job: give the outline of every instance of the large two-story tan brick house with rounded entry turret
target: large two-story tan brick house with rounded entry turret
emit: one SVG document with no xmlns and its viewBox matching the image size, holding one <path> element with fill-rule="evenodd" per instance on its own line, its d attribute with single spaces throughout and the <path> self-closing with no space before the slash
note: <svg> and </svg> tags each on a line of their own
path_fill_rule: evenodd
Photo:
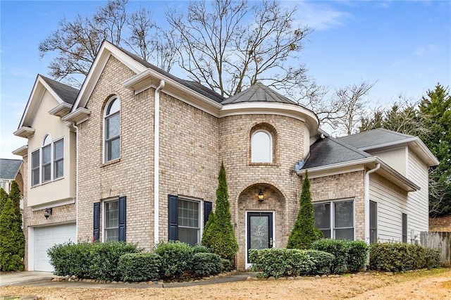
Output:
<svg viewBox="0 0 451 300">
<path fill-rule="evenodd" d="M 239 269 L 249 248 L 286 246 L 304 170 L 326 236 L 411 242 L 428 230 L 437 160 L 416 137 L 326 137 L 314 112 L 261 83 L 224 99 L 109 42 L 80 91 L 38 75 L 15 134 L 28 139 L 14 151 L 26 169 L 28 270 L 51 270 L 55 242 L 199 243 L 221 161 Z"/>
</svg>

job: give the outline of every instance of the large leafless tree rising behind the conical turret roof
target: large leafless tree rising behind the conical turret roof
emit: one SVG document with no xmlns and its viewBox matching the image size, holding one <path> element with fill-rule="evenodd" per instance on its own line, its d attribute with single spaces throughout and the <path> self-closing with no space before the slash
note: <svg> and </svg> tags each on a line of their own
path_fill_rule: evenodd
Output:
<svg viewBox="0 0 451 300">
<path fill-rule="evenodd" d="M 233 96 L 257 81 L 290 89 L 307 80 L 304 65 L 287 63 L 299 59 L 311 32 L 307 26 L 293 28 L 294 13 L 277 1 L 250 6 L 216 0 L 192 2 L 187 13 L 166 15 L 180 39 L 180 67 L 192 80 Z"/>
</svg>

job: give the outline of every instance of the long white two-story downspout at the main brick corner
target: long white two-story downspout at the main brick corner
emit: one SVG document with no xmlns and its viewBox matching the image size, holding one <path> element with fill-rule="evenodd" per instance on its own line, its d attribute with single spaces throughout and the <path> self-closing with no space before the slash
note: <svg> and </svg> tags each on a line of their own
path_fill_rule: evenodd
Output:
<svg viewBox="0 0 451 300">
<path fill-rule="evenodd" d="M 164 80 L 155 89 L 154 97 L 154 243 L 159 242 L 159 196 L 160 196 L 160 91 L 164 87 Z"/>
</svg>

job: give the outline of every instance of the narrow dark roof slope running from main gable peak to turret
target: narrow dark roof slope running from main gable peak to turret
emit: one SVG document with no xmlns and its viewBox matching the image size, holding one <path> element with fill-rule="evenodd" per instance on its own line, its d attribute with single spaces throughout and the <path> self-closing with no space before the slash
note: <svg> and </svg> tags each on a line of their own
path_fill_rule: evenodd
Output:
<svg viewBox="0 0 451 300">
<path fill-rule="evenodd" d="M 121 51 L 123 51 L 125 54 L 127 54 L 128 56 L 133 58 L 135 61 L 141 63 L 145 67 L 155 70 L 156 72 L 158 72 L 166 77 L 171 78 L 172 80 L 180 83 L 181 85 L 184 85 L 185 87 L 188 87 L 188 88 L 194 90 L 195 92 L 198 92 L 199 94 L 202 94 L 202 95 L 208 97 L 209 99 L 211 99 L 213 101 L 221 103 L 221 101 L 223 101 L 223 99 L 224 99 L 223 96 L 214 92 L 213 90 L 209 89 L 208 87 L 204 87 L 199 82 L 183 80 L 179 77 L 172 75 L 171 73 L 166 72 L 165 70 L 163 70 L 161 68 L 158 68 L 156 65 L 152 65 L 152 63 L 149 63 L 148 61 L 144 61 L 144 59 L 140 58 L 139 56 L 137 56 L 135 54 L 132 54 L 131 52 L 129 52 L 119 46 L 116 46 L 116 47 L 118 47 L 118 49 L 121 49 Z"/>
</svg>

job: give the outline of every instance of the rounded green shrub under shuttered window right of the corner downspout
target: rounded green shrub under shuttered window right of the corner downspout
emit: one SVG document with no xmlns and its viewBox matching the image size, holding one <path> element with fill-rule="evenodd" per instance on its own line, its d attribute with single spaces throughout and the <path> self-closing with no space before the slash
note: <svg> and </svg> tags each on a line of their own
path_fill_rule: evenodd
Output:
<svg viewBox="0 0 451 300">
<path fill-rule="evenodd" d="M 179 241 L 161 242 L 155 253 L 161 256 L 161 276 L 167 278 L 180 277 L 192 267 L 194 252 L 192 246 Z"/>
</svg>

